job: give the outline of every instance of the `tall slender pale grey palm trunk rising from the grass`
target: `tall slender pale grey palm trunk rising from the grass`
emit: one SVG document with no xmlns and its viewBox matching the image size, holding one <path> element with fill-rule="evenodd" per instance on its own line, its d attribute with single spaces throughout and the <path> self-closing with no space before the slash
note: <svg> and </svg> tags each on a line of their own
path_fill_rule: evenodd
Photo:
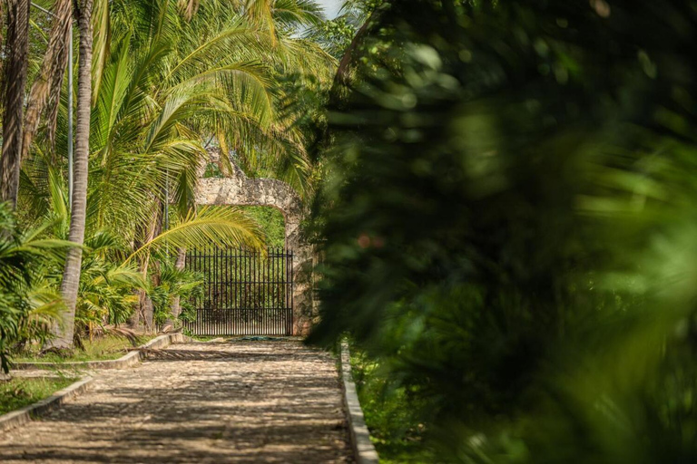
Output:
<svg viewBox="0 0 697 464">
<path fill-rule="evenodd" d="M 83 0 L 80 5 L 78 28 L 80 30 L 80 60 L 77 71 L 77 123 L 75 125 L 75 164 L 73 203 L 71 205 L 68 240 L 83 245 L 84 223 L 87 208 L 87 174 L 90 158 L 90 111 L 92 108 L 92 7 L 93 0 Z M 59 330 L 54 346 L 73 345 L 75 330 L 75 302 L 80 285 L 80 266 L 83 250 L 73 247 L 65 258 L 63 294 L 66 310 L 63 327 Z"/>
</svg>

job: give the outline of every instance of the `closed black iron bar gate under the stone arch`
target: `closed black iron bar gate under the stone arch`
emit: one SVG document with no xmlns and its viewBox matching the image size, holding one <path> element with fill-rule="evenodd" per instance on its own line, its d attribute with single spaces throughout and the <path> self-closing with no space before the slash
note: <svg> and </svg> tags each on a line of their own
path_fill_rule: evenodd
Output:
<svg viewBox="0 0 697 464">
<path fill-rule="evenodd" d="M 187 253 L 186 266 L 203 275 L 203 295 L 191 300 L 195 335 L 290 335 L 293 330 L 293 253 L 209 247 Z"/>
</svg>

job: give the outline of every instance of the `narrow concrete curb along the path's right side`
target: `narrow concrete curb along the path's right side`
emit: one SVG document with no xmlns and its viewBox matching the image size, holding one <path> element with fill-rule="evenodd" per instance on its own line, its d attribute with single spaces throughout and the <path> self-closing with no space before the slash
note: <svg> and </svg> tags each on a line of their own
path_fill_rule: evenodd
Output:
<svg viewBox="0 0 697 464">
<path fill-rule="evenodd" d="M 344 406 L 348 413 L 348 430 L 351 436 L 351 446 L 358 464 L 378 464 L 378 451 L 370 441 L 370 433 L 363 410 L 360 408 L 356 384 L 351 375 L 351 357 L 348 353 L 348 343 L 341 342 L 341 381 L 344 390 Z"/>
</svg>

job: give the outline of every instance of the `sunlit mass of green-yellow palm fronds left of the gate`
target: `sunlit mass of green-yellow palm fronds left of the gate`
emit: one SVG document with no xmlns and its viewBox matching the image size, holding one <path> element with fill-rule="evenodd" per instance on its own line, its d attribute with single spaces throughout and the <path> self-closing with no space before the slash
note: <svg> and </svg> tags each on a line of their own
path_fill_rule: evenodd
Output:
<svg viewBox="0 0 697 464">
<path fill-rule="evenodd" d="M 309 120 L 324 117 L 321 97 L 293 94 L 309 82 L 326 95 L 335 61 L 298 34 L 322 21 L 319 8 L 293 1 L 274 8 L 262 1 L 190 6 L 104 3 L 94 18 L 83 262 L 74 320 L 67 321 L 78 347 L 94 337 L 176 326 L 172 304 L 188 314 L 200 291 L 201 276 L 180 259 L 188 247 L 264 246 L 259 222 L 241 209 L 195 204 L 211 148 L 219 151 L 223 175 L 235 163 L 250 176 L 285 180 L 302 196 L 311 191 L 307 145 L 315 134 L 308 128 Z M 294 82 L 282 77 L 290 73 Z M 66 324 L 57 317 L 56 295 L 70 218 L 66 104 L 62 97 L 55 124 L 40 127 L 23 160 L 16 215 L 7 212 L 12 224 L 3 226 L 12 230 L 4 236 L 7 253 L 13 247 L 24 253 L 8 255 L 15 267 L 6 267 L 0 284 L 0 297 L 8 299 L 4 369 L 10 348 L 50 344 L 52 327 Z M 22 247 L 27 234 L 51 253 Z"/>
</svg>

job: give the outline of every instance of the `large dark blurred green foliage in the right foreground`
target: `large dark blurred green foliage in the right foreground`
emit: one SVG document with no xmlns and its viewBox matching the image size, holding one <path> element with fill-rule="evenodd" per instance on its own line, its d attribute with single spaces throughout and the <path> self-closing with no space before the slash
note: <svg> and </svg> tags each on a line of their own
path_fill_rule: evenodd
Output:
<svg viewBox="0 0 697 464">
<path fill-rule="evenodd" d="M 384 11 L 382 11 L 384 8 Z M 447 462 L 692 462 L 697 11 L 397 2 L 329 121 L 322 320 Z"/>
</svg>

